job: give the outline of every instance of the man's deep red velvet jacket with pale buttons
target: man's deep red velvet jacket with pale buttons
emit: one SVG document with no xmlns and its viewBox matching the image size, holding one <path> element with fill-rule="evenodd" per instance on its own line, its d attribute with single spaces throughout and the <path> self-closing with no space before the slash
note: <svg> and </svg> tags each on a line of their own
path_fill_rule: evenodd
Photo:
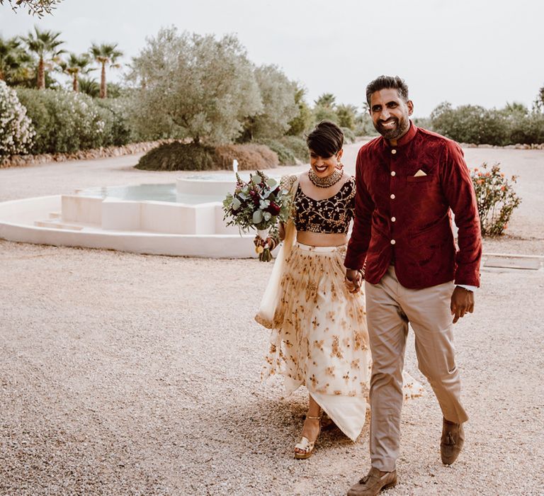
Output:
<svg viewBox="0 0 544 496">
<path fill-rule="evenodd" d="M 372 284 L 394 263 L 406 288 L 453 280 L 480 286 L 480 219 L 457 143 L 413 123 L 396 147 L 378 137 L 359 150 L 356 186 L 346 267 L 365 264 L 365 280 Z M 458 227 L 458 249 L 450 211 Z"/>
</svg>

